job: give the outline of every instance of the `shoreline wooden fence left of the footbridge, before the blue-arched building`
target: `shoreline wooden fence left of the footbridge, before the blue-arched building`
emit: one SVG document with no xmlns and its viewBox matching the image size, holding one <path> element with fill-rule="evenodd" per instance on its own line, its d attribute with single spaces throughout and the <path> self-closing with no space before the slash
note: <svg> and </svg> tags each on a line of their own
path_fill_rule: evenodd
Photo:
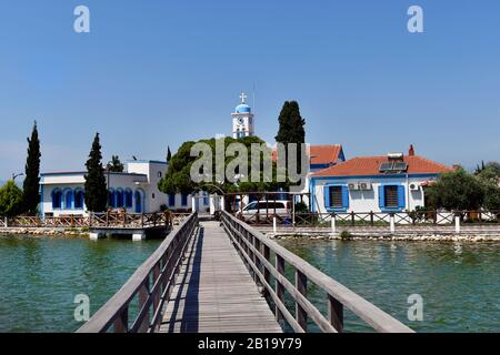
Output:
<svg viewBox="0 0 500 355">
<path fill-rule="evenodd" d="M 189 213 L 90 213 L 88 216 L 17 216 L 0 217 L 0 227 L 120 227 L 138 229 L 178 225 Z"/>
</svg>

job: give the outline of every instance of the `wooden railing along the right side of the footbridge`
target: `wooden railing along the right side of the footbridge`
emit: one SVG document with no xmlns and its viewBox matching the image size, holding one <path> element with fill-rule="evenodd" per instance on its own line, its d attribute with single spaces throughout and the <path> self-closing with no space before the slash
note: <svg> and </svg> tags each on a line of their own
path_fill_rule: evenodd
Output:
<svg viewBox="0 0 500 355">
<path fill-rule="evenodd" d="M 342 332 L 344 307 L 352 311 L 377 332 L 413 332 L 228 212 L 222 212 L 221 221 L 243 261 L 249 266 L 254 281 L 263 287 L 274 304 L 277 320 L 286 321 L 294 332 L 307 332 L 308 320 L 311 320 L 322 332 Z M 273 260 L 271 254 L 274 256 Z M 294 283 L 287 278 L 287 267 L 292 268 Z M 274 281 L 274 286 L 272 281 Z M 323 315 L 308 300 L 310 283 L 326 292 L 324 302 L 328 307 L 328 315 Z M 286 292 L 294 302 L 294 315 L 286 305 Z"/>
</svg>

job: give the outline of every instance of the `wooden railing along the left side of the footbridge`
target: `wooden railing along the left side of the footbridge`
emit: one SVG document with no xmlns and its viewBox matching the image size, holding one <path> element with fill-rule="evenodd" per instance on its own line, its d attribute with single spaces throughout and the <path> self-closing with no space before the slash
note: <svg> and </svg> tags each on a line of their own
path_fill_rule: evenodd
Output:
<svg viewBox="0 0 500 355">
<path fill-rule="evenodd" d="M 160 247 L 133 273 L 78 333 L 153 333 L 162 320 L 164 300 L 170 297 L 180 271 L 182 255 L 198 225 L 196 213 L 171 232 Z M 138 298 L 137 316 L 130 322 L 132 303 Z"/>
</svg>

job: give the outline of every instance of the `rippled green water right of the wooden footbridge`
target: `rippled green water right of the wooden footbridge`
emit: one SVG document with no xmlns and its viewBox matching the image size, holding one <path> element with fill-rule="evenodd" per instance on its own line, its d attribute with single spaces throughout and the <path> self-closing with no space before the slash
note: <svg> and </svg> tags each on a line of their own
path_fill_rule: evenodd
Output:
<svg viewBox="0 0 500 355">
<path fill-rule="evenodd" d="M 280 241 L 417 332 L 500 331 L 500 244 L 377 241 Z M 409 322 L 411 294 L 423 322 Z M 310 292 L 324 310 L 324 296 Z M 348 331 L 369 331 L 347 314 Z"/>
</svg>

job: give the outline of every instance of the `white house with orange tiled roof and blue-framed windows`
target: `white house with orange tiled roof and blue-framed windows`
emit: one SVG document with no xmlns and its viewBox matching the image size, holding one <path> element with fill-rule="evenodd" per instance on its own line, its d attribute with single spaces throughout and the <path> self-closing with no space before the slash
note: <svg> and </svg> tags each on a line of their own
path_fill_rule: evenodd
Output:
<svg viewBox="0 0 500 355">
<path fill-rule="evenodd" d="M 312 212 L 403 212 L 426 205 L 424 186 L 450 168 L 414 155 L 353 158 L 310 176 Z"/>
</svg>

